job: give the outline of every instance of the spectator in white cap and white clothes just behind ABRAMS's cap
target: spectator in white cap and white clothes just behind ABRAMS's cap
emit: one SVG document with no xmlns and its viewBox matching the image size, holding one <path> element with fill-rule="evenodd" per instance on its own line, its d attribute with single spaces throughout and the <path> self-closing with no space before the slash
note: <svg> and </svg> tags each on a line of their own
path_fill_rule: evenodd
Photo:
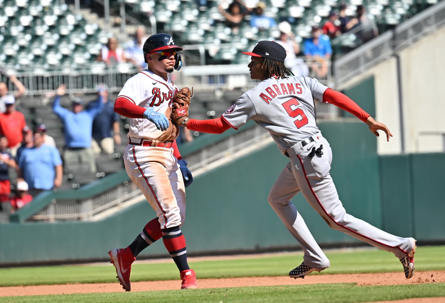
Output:
<svg viewBox="0 0 445 303">
<path fill-rule="evenodd" d="M 291 25 L 286 21 L 278 24 L 280 31 L 279 40 L 276 41 L 286 50 L 286 59 L 284 64 L 295 76 L 309 76 L 309 68 L 303 59 L 297 58 L 300 52 L 300 46 L 295 41 L 295 35 L 292 32 Z"/>
</svg>

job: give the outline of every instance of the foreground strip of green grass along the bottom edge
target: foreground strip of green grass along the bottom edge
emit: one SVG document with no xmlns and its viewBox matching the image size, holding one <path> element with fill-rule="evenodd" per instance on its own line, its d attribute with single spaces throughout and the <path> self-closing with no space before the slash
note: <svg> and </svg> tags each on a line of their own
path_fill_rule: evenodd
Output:
<svg viewBox="0 0 445 303">
<path fill-rule="evenodd" d="M 354 283 L 266 287 L 208 288 L 175 291 L 140 291 L 76 295 L 0 297 L 2 303 L 19 302 L 290 302 L 353 303 L 445 296 L 445 283 L 398 286 L 355 286 Z"/>
</svg>

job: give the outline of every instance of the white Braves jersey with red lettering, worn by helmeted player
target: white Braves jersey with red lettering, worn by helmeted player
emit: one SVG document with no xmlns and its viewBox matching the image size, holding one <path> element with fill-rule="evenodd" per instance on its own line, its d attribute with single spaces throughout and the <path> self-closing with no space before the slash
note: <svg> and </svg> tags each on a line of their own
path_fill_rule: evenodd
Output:
<svg viewBox="0 0 445 303">
<path fill-rule="evenodd" d="M 134 104 L 149 108 L 166 115 L 169 127 L 160 131 L 156 125 L 145 118 L 131 118 L 128 137 L 144 138 L 147 140 L 173 141 L 178 136 L 178 127 L 171 122 L 171 104 L 176 85 L 170 79 L 163 79 L 149 70 L 144 70 L 128 79 L 119 92 L 119 97 L 126 98 Z"/>
</svg>

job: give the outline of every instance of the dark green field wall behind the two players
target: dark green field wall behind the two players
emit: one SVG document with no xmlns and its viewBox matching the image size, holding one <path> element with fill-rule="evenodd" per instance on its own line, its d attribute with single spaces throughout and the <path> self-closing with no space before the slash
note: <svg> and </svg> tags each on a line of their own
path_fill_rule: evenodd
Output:
<svg viewBox="0 0 445 303">
<path fill-rule="evenodd" d="M 445 239 L 445 154 L 378 156 L 376 137 L 356 118 L 320 121 L 319 126 L 332 146 L 331 174 L 350 214 L 419 242 Z M 287 162 L 272 143 L 196 176 L 187 188 L 182 227 L 189 255 L 299 250 L 267 203 L 269 189 Z M 329 228 L 301 194 L 293 202 L 321 245 L 360 243 Z M 1 224 L 0 265 L 106 261 L 109 249 L 126 247 L 154 217 L 141 201 L 96 222 Z M 140 254 L 154 257 L 168 257 L 162 242 Z"/>
</svg>

